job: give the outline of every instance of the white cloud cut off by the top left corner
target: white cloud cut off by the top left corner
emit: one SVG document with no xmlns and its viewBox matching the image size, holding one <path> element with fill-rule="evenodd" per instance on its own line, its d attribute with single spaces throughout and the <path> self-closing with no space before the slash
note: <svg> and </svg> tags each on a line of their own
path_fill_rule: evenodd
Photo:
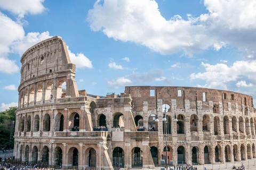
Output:
<svg viewBox="0 0 256 170">
<path fill-rule="evenodd" d="M 18 15 L 19 18 L 23 18 L 28 13 L 42 13 L 45 10 L 43 2 L 44 0 L 1 0 L 0 8 Z"/>
</svg>

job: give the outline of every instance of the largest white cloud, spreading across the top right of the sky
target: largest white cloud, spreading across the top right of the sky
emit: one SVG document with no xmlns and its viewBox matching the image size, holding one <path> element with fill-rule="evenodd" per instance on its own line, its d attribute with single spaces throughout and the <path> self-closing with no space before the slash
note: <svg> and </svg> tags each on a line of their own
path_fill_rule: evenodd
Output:
<svg viewBox="0 0 256 170">
<path fill-rule="evenodd" d="M 205 0 L 204 5 L 208 12 L 197 18 L 174 15 L 166 20 L 156 1 L 98 0 L 89 10 L 87 20 L 93 31 L 145 45 L 161 54 L 183 50 L 191 55 L 231 45 L 245 56 L 255 57 L 256 1 Z"/>
</svg>

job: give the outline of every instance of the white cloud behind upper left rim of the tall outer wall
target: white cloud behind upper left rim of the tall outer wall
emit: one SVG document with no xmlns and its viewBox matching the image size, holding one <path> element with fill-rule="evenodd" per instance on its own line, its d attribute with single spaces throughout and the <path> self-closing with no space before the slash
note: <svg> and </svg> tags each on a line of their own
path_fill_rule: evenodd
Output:
<svg viewBox="0 0 256 170">
<path fill-rule="evenodd" d="M 29 32 L 26 36 L 24 36 L 22 39 L 15 41 L 11 48 L 14 53 L 19 53 L 22 55 L 26 52 L 26 50 L 35 44 L 46 40 L 48 38 L 51 38 L 49 31 L 45 31 L 42 33 L 39 32 Z"/>
</svg>

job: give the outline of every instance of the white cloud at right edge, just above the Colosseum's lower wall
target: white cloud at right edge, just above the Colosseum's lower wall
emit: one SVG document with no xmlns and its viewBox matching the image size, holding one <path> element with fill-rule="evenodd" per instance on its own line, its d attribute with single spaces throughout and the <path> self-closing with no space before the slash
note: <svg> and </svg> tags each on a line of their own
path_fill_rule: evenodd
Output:
<svg viewBox="0 0 256 170">
<path fill-rule="evenodd" d="M 201 64 L 205 68 L 205 72 L 190 74 L 191 80 L 205 80 L 204 86 L 207 88 L 227 89 L 228 82 L 234 82 L 241 79 L 248 79 L 256 82 L 253 76 L 256 74 L 256 61 L 236 61 L 233 65 L 226 64 Z M 251 87 L 252 83 L 247 84 L 245 81 L 239 81 L 237 87 Z"/>
</svg>

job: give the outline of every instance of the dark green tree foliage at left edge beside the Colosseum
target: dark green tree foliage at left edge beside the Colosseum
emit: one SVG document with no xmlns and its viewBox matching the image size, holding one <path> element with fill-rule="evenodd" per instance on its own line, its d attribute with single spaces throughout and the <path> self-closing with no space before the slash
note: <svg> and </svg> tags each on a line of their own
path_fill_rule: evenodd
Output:
<svg viewBox="0 0 256 170">
<path fill-rule="evenodd" d="M 17 107 L 10 107 L 6 111 L 0 112 L 0 147 L 5 149 L 13 148 L 15 111 Z"/>
</svg>

